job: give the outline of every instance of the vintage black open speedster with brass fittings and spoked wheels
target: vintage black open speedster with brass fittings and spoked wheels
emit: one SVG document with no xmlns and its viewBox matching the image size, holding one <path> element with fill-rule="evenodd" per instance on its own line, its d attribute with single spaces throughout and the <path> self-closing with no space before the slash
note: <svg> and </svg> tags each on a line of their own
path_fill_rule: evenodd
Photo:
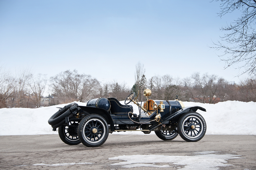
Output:
<svg viewBox="0 0 256 170">
<path fill-rule="evenodd" d="M 86 106 L 76 103 L 60 108 L 50 117 L 48 123 L 53 131 L 58 128 L 60 139 L 70 145 L 83 143 L 88 147 L 102 145 L 109 133 L 120 131 L 154 131 L 161 140 L 173 140 L 178 134 L 183 140 L 196 142 L 206 133 L 206 122 L 196 111 L 206 111 L 203 107 L 185 107 L 178 97 L 174 101 L 149 99 L 151 90 L 143 92 L 147 101 L 138 102 L 138 96 L 131 93 L 125 104 L 116 98 L 96 98 Z M 139 113 L 133 113 L 133 102 Z"/>
</svg>

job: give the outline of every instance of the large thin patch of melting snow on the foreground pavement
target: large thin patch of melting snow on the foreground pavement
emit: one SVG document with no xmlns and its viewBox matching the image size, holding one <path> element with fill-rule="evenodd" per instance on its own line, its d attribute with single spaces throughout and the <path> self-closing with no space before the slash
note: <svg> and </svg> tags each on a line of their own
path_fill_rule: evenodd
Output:
<svg viewBox="0 0 256 170">
<path fill-rule="evenodd" d="M 121 165 L 122 168 L 154 167 L 177 168 L 180 170 L 218 170 L 219 167 L 230 166 L 227 159 L 243 159 L 240 155 L 218 154 L 215 151 L 195 152 L 195 156 L 167 156 L 167 155 L 123 155 L 109 158 L 110 160 L 124 160 L 111 165 Z M 159 163 L 165 165 L 157 165 Z"/>
</svg>

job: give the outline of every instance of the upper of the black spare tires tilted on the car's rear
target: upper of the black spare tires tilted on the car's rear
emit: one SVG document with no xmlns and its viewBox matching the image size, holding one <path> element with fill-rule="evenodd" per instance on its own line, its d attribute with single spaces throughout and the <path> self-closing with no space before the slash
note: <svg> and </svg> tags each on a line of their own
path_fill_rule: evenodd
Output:
<svg viewBox="0 0 256 170">
<path fill-rule="evenodd" d="M 50 117 L 50 119 L 48 120 L 49 125 L 60 124 L 60 122 L 63 120 L 65 122 L 65 117 L 68 117 L 71 114 L 71 111 L 69 110 L 69 108 L 73 105 L 78 106 L 78 104 L 76 103 L 70 103 L 62 107 L 55 114 L 53 114 L 52 117 Z"/>
</svg>

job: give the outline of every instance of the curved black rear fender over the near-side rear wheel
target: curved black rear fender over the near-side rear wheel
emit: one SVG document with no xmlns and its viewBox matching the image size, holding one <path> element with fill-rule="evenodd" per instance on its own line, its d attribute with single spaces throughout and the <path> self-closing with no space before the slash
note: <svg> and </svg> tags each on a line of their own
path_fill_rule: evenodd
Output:
<svg viewBox="0 0 256 170">
<path fill-rule="evenodd" d="M 110 130 L 113 132 L 115 130 L 114 122 L 109 112 L 105 109 L 97 108 L 97 107 L 88 107 L 88 106 L 79 106 L 84 112 L 88 114 L 98 114 L 104 117 L 108 124 L 110 124 Z"/>
</svg>

